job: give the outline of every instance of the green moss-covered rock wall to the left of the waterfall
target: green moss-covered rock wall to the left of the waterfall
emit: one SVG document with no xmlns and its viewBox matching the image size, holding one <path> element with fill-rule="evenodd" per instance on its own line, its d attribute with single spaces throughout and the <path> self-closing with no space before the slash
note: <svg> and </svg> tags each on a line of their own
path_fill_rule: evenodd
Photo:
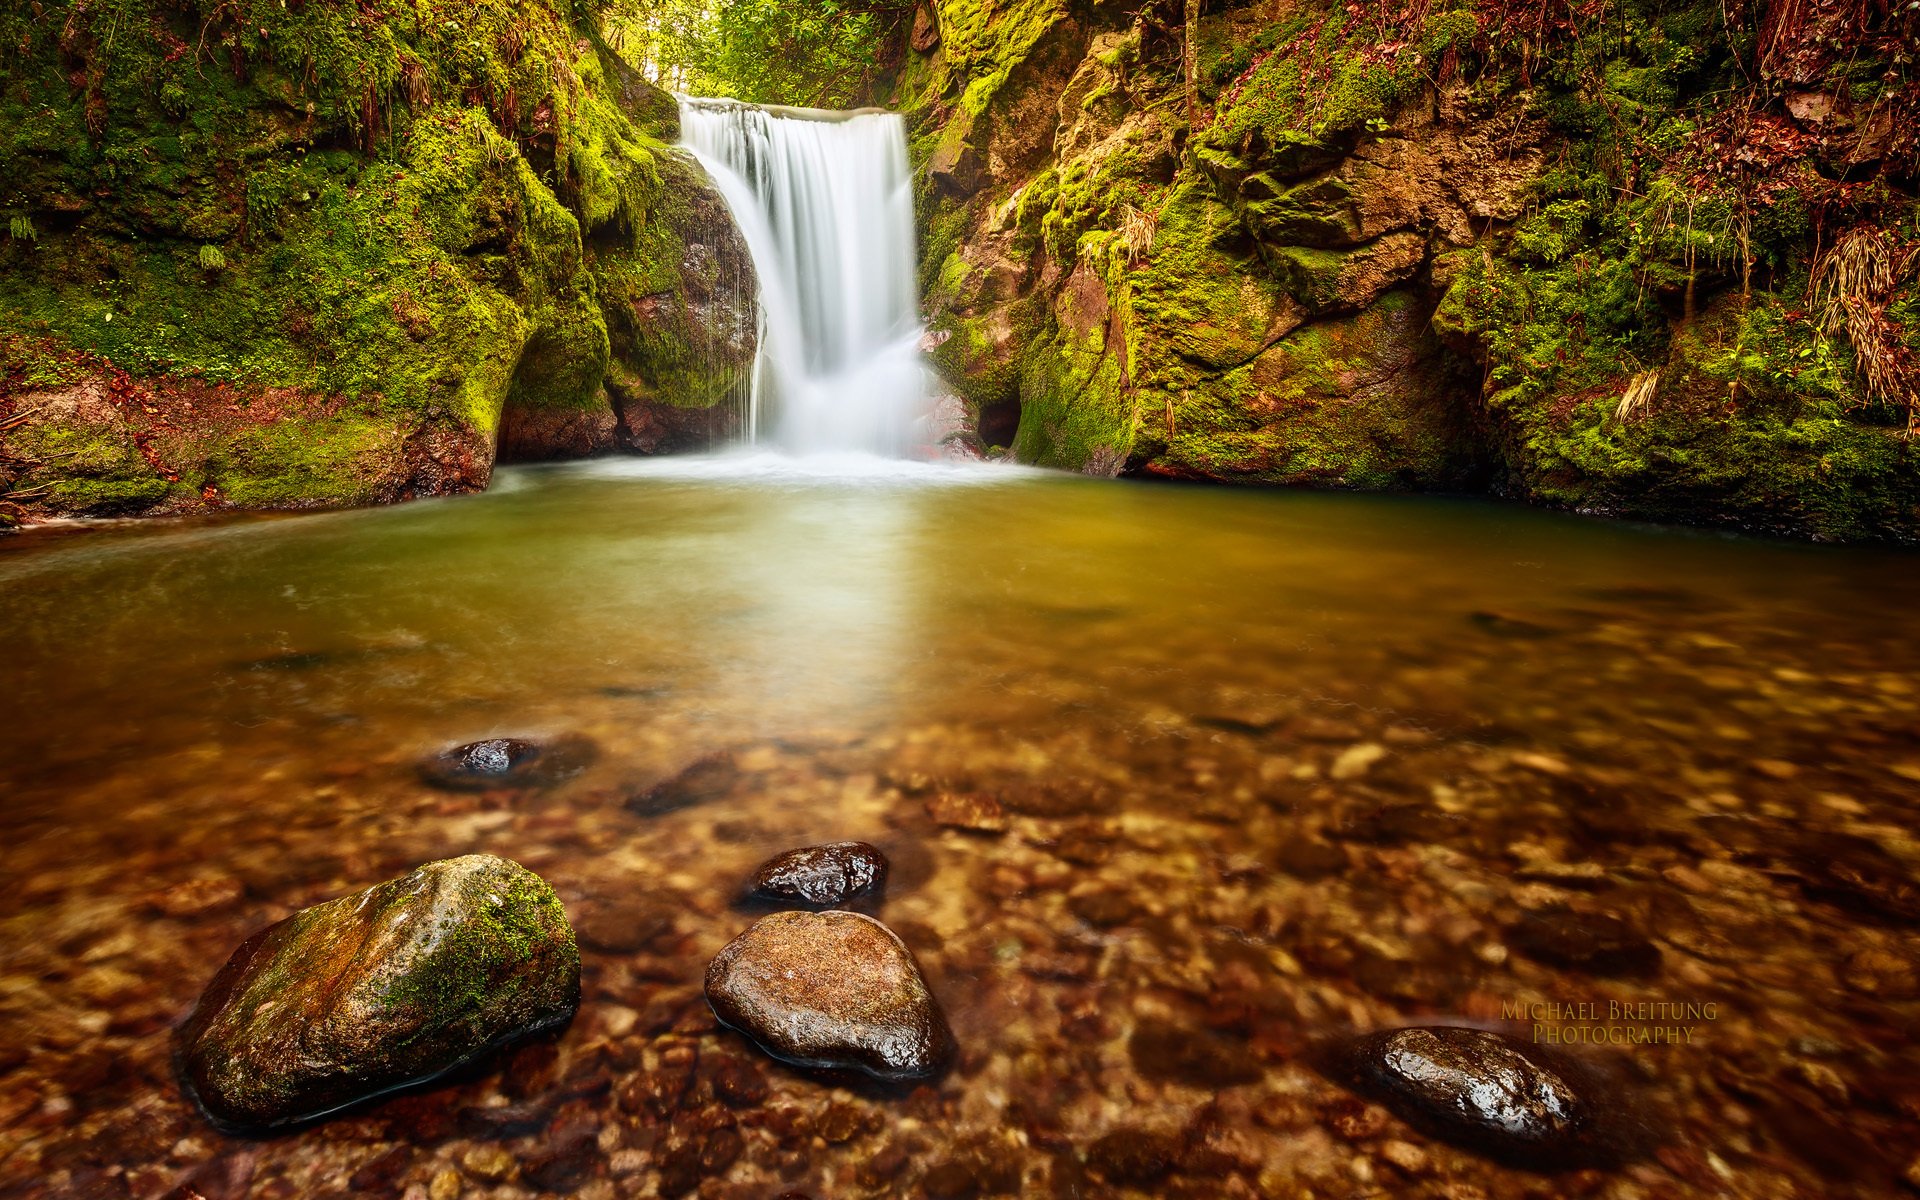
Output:
<svg viewBox="0 0 1920 1200">
<path fill-rule="evenodd" d="M 691 407 L 745 374 L 745 250 L 595 6 L 42 10 L 0 17 L 0 478 L 29 509 L 472 490 L 497 444 L 614 445 L 614 363 Z M 106 407 L 50 422 L 81 384 Z"/>
</svg>

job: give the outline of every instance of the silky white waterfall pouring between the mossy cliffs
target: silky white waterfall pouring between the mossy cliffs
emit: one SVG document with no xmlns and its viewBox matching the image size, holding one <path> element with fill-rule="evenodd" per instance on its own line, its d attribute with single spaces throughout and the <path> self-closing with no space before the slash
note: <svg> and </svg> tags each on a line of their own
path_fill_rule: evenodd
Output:
<svg viewBox="0 0 1920 1200">
<path fill-rule="evenodd" d="M 927 382 L 900 117 L 682 98 L 680 129 L 760 276 L 747 440 L 904 453 Z"/>
</svg>

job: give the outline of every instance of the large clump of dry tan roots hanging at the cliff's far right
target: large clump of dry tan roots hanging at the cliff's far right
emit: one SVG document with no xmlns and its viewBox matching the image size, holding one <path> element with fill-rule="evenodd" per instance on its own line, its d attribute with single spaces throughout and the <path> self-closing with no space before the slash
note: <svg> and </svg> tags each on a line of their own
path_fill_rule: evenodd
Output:
<svg viewBox="0 0 1920 1200">
<path fill-rule="evenodd" d="M 1920 361 L 1887 313 L 1893 292 L 1920 267 L 1920 244 L 1903 246 L 1893 234 L 1855 227 L 1814 263 L 1809 298 L 1820 332 L 1841 332 L 1872 401 L 1907 409 L 1907 434 L 1920 430 Z"/>
</svg>

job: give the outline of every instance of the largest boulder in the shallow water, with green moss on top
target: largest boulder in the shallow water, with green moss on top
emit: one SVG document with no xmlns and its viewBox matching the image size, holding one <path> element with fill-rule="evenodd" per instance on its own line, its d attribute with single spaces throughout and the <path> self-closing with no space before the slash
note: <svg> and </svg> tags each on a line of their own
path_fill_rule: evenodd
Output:
<svg viewBox="0 0 1920 1200">
<path fill-rule="evenodd" d="M 215 1123 L 273 1129 L 440 1075 L 578 1002 L 553 889 L 467 854 L 250 937 L 180 1027 L 177 1060 Z"/>
</svg>

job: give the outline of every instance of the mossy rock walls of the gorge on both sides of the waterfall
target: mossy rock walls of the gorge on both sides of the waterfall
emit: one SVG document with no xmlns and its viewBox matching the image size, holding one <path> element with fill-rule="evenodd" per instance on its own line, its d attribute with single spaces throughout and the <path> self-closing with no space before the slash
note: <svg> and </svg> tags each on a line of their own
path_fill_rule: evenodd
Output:
<svg viewBox="0 0 1920 1200">
<path fill-rule="evenodd" d="M 8 522 L 737 434 L 753 265 L 607 4 L 246 8 L 0 29 Z M 1841 8 L 927 0 L 858 98 L 935 440 L 1920 538 L 1916 17 Z"/>
</svg>

